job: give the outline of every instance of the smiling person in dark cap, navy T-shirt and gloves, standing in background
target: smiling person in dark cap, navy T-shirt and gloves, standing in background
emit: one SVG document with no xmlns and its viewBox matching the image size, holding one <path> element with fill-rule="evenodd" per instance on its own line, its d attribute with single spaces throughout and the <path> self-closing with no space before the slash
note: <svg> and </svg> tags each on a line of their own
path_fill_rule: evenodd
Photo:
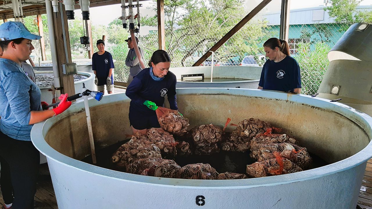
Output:
<svg viewBox="0 0 372 209">
<path fill-rule="evenodd" d="M 97 90 L 104 93 L 105 85 L 107 92 L 112 94 L 114 89 L 113 69 L 114 62 L 110 52 L 105 51 L 105 42 L 101 39 L 97 41 L 98 52 L 92 56 L 92 68 L 96 79 L 94 83 L 97 85 Z"/>
</svg>

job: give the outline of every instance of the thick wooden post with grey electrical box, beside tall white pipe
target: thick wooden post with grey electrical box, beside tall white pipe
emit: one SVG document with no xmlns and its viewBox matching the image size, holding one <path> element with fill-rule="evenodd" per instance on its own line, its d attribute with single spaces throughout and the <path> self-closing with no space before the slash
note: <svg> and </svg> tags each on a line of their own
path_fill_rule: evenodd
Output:
<svg viewBox="0 0 372 209">
<path fill-rule="evenodd" d="M 54 32 L 55 32 L 55 45 L 56 45 L 56 48 L 57 48 L 56 51 L 58 52 L 58 56 L 57 56 L 57 60 L 52 60 L 52 61 L 53 62 L 57 61 L 57 63 L 58 63 L 58 71 L 60 72 L 61 86 L 63 87 L 61 89 L 61 93 L 62 94 L 68 93 L 68 95 L 71 96 L 71 95 L 75 94 L 74 76 L 73 75 L 65 75 L 65 74 L 63 74 L 63 70 L 62 70 L 62 64 L 66 64 L 67 59 L 66 59 L 65 46 L 64 46 L 64 41 L 63 41 L 63 30 L 62 30 L 61 15 L 63 15 L 63 18 L 64 18 L 64 27 L 65 27 L 65 34 L 66 34 L 68 61 L 72 62 L 70 35 L 68 34 L 68 23 L 67 23 L 67 16 L 66 16 L 65 7 L 60 6 L 59 10 L 60 10 L 60 12 L 58 14 L 58 18 L 55 18 L 55 16 L 53 16 Z"/>
</svg>

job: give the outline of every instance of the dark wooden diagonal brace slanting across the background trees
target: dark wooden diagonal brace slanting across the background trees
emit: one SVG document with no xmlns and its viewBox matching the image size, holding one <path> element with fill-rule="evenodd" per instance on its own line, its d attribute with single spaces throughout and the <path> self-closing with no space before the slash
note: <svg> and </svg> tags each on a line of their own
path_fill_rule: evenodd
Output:
<svg viewBox="0 0 372 209">
<path fill-rule="evenodd" d="M 252 19 L 257 13 L 259 13 L 263 7 L 265 7 L 271 0 L 263 0 L 256 8 L 254 8 L 247 16 L 245 16 L 238 24 L 234 26 L 229 32 L 224 35 L 211 49 L 209 49 L 198 61 L 195 62 L 192 66 L 199 66 L 201 65 L 209 56 L 211 56 L 212 52 L 210 51 L 217 51 L 219 47 L 221 47 L 231 36 L 233 36 L 238 30 L 240 30 L 246 23 Z"/>
</svg>

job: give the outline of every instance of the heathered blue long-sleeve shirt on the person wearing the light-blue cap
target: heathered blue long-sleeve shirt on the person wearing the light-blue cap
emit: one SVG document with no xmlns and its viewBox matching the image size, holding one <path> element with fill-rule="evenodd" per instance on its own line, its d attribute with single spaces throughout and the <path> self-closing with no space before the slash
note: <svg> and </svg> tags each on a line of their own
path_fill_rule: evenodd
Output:
<svg viewBox="0 0 372 209">
<path fill-rule="evenodd" d="M 0 130 L 13 139 L 31 141 L 32 110 L 42 110 L 41 91 L 12 60 L 0 58 Z"/>
</svg>

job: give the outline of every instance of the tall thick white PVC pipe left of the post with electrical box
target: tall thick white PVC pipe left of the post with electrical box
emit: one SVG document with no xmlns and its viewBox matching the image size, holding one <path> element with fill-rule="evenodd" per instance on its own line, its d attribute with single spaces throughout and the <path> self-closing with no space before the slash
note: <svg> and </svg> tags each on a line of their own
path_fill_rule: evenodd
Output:
<svg viewBox="0 0 372 209">
<path fill-rule="evenodd" d="M 51 54 L 52 54 L 53 75 L 54 75 L 53 77 L 54 86 L 56 88 L 59 88 L 61 87 L 60 72 L 58 71 L 58 64 L 57 64 L 57 50 L 56 50 L 57 47 L 55 45 L 53 10 L 52 10 L 51 1 L 45 1 L 45 7 L 47 9 L 49 40 L 50 40 L 50 49 L 51 49 Z"/>
</svg>

